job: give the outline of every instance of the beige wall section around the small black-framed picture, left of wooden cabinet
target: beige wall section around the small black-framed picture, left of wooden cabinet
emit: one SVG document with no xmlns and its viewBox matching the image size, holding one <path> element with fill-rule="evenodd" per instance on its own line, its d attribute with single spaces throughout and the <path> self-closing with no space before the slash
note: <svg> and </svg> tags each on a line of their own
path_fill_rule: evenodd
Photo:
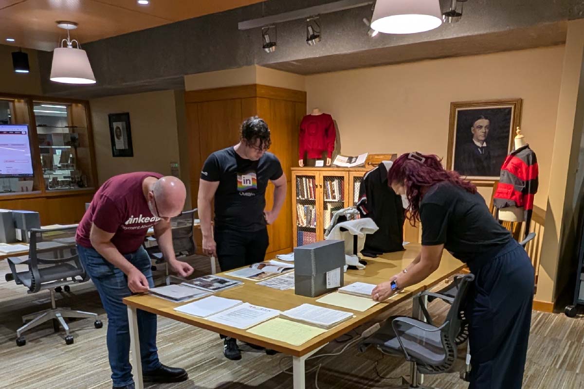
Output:
<svg viewBox="0 0 584 389">
<path fill-rule="evenodd" d="M 130 171 L 171 174 L 170 163 L 179 162 L 174 91 L 103 97 L 89 104 L 99 184 Z M 123 112 L 130 113 L 134 157 L 112 157 L 107 115 Z"/>
</svg>

